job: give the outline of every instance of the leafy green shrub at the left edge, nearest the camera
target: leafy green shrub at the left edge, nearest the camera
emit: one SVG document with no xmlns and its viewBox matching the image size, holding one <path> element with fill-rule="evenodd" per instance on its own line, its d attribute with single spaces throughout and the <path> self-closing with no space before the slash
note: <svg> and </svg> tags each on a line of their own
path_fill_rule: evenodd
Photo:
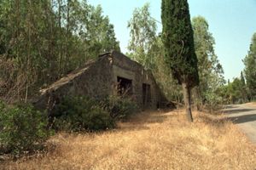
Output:
<svg viewBox="0 0 256 170">
<path fill-rule="evenodd" d="M 6 105 L 0 101 L 0 154 L 20 155 L 42 148 L 49 137 L 47 116 L 32 105 Z"/>
</svg>

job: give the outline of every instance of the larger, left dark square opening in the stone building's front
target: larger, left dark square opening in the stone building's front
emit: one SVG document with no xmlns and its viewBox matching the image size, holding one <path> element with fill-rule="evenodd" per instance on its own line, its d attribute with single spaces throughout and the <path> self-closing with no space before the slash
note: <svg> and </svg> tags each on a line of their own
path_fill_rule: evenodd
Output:
<svg viewBox="0 0 256 170">
<path fill-rule="evenodd" d="M 132 94 L 132 80 L 124 78 L 124 77 L 117 77 L 117 81 L 119 82 L 119 85 L 118 85 L 118 94 L 119 95 L 131 95 Z"/>
</svg>

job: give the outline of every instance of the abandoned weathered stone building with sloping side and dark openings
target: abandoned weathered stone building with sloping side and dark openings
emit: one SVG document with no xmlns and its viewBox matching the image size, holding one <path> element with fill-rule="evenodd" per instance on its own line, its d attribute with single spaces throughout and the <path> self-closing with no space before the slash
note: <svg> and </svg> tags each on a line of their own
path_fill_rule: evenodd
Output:
<svg viewBox="0 0 256 170">
<path fill-rule="evenodd" d="M 83 69 L 73 71 L 41 90 L 41 94 L 35 104 L 41 109 L 53 108 L 67 95 L 100 98 L 126 94 L 141 109 L 156 109 L 167 105 L 167 99 L 161 93 L 153 75 L 136 61 L 116 51 L 100 55 Z"/>
</svg>

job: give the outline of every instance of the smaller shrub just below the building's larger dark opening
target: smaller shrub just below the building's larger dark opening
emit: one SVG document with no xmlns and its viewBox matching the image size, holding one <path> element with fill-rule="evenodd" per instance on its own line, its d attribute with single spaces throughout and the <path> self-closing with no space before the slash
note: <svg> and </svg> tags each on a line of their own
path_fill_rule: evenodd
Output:
<svg viewBox="0 0 256 170">
<path fill-rule="evenodd" d="M 101 105 L 115 120 L 125 120 L 137 112 L 136 103 L 131 98 L 121 96 L 108 96 L 102 100 Z"/>
</svg>

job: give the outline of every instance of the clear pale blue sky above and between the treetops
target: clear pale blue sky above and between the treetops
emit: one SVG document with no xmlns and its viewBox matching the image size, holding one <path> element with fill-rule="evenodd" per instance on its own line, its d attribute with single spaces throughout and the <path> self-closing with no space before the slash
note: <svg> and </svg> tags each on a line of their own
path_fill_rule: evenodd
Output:
<svg viewBox="0 0 256 170">
<path fill-rule="evenodd" d="M 89 0 L 92 5 L 100 4 L 103 13 L 114 25 L 123 53 L 127 52 L 130 32 L 128 20 L 134 8 L 150 3 L 150 13 L 160 21 L 160 0 Z M 256 32 L 256 0 L 188 0 L 190 16 L 203 16 L 209 31 L 215 38 L 215 53 L 224 67 L 224 77 L 232 80 L 240 77 L 244 69 L 242 59 L 247 55 L 251 38 Z M 161 25 L 158 24 L 158 32 Z M 256 69 L 256 65 L 255 65 Z"/>
</svg>

